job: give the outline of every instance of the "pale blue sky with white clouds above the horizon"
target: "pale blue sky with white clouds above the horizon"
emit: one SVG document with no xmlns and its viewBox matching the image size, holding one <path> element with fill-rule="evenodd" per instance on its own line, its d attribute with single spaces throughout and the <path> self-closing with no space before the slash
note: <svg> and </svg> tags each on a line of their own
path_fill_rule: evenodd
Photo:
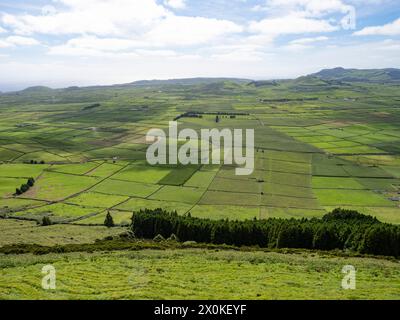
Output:
<svg viewBox="0 0 400 320">
<path fill-rule="evenodd" d="M 398 0 L 0 0 L 0 91 L 400 67 Z"/>
</svg>

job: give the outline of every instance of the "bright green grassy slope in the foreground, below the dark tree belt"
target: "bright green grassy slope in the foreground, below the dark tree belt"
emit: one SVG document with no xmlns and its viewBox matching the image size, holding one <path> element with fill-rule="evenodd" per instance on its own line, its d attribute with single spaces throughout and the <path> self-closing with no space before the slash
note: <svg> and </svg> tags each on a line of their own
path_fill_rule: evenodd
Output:
<svg viewBox="0 0 400 320">
<path fill-rule="evenodd" d="M 42 267 L 57 271 L 43 290 Z M 357 270 L 344 290 L 342 268 Z M 399 263 L 318 253 L 142 250 L 0 256 L 0 299 L 399 299 Z"/>
</svg>

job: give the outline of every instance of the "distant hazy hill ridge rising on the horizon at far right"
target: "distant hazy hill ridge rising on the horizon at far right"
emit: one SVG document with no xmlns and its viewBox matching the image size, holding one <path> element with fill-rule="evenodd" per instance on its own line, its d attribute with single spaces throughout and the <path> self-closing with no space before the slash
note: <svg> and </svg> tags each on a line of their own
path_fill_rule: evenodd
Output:
<svg viewBox="0 0 400 320">
<path fill-rule="evenodd" d="M 308 77 L 347 82 L 400 82 L 400 69 L 323 69 Z"/>
</svg>

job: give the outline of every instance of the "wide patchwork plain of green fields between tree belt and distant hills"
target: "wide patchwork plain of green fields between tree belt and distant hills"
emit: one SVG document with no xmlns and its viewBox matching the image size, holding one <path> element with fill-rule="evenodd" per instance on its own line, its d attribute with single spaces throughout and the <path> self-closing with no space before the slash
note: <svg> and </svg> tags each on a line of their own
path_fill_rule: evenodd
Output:
<svg viewBox="0 0 400 320">
<path fill-rule="evenodd" d="M 398 86 L 317 83 L 0 95 L 0 214 L 94 226 L 108 211 L 126 224 L 134 211 L 158 207 L 238 220 L 320 217 L 346 207 L 399 224 Z M 237 176 L 229 164 L 149 165 L 147 131 L 167 129 L 176 118 L 180 129 L 199 134 L 254 129 L 254 172 Z M 28 178 L 34 186 L 14 195 Z"/>
</svg>

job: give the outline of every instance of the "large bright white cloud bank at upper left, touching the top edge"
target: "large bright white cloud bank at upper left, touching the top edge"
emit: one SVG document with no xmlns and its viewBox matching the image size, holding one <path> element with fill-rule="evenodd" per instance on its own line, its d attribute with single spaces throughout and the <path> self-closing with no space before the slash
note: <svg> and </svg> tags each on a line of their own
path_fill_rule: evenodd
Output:
<svg viewBox="0 0 400 320">
<path fill-rule="evenodd" d="M 243 28 L 231 21 L 177 16 L 156 0 L 55 0 L 42 14 L 3 14 L 1 21 L 20 35 L 69 35 L 72 53 L 118 51 L 132 47 L 193 46 Z M 171 2 L 178 5 L 178 2 Z M 60 52 L 62 46 L 51 50 Z"/>
</svg>

